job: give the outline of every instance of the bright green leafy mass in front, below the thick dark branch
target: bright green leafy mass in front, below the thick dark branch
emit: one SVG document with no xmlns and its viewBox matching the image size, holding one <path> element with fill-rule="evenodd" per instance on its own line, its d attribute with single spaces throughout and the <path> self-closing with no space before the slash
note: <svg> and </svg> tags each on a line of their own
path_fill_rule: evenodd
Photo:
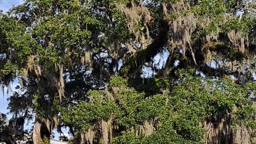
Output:
<svg viewBox="0 0 256 144">
<path fill-rule="evenodd" d="M 116 82 L 121 82 L 119 77 L 113 77 L 109 84 Z M 170 92 L 151 97 L 127 85 L 119 89 L 110 87 L 111 94 L 91 92 L 92 101 L 78 103 L 62 112 L 61 118 L 78 130 L 93 131 L 90 125 L 94 123 L 94 129 L 122 133 L 113 143 L 228 143 L 231 138 L 218 134 L 229 132 L 231 126 L 250 127 L 249 135 L 255 131 L 255 109 L 249 92 L 252 87 L 255 85 L 242 87 L 227 79 L 213 81 L 191 76 L 184 77 Z M 104 125 L 101 119 L 111 125 Z M 97 123 L 101 126 L 96 126 Z M 219 125 L 221 129 L 216 129 Z M 101 137 L 109 137 L 104 134 Z M 247 141 L 241 138 L 239 141 Z"/>
</svg>

